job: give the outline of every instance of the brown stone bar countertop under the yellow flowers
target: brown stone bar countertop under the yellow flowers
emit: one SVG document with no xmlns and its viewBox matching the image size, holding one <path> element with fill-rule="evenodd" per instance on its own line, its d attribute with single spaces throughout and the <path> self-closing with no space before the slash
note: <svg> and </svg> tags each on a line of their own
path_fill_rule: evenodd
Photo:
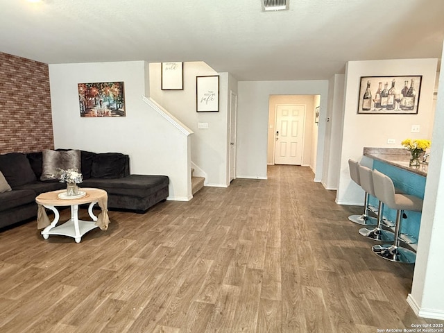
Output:
<svg viewBox="0 0 444 333">
<path fill-rule="evenodd" d="M 370 157 L 373 160 L 393 165 L 393 167 L 427 177 L 429 164 L 421 163 L 419 167 L 409 167 L 410 152 L 407 151 L 407 149 L 364 147 L 363 155 Z"/>
</svg>

